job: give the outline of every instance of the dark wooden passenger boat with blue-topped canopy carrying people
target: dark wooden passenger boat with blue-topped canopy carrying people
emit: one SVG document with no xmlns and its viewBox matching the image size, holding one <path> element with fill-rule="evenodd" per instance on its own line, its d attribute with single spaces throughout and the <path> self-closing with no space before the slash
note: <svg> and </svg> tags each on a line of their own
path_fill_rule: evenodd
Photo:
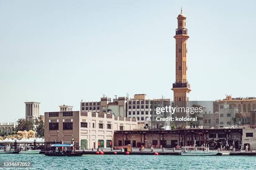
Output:
<svg viewBox="0 0 256 170">
<path fill-rule="evenodd" d="M 46 156 L 82 156 L 83 153 L 76 153 L 75 152 L 75 144 L 60 144 L 54 143 L 51 144 L 52 150 L 49 152 L 44 153 Z M 70 148 L 70 149 L 67 149 Z"/>
</svg>

